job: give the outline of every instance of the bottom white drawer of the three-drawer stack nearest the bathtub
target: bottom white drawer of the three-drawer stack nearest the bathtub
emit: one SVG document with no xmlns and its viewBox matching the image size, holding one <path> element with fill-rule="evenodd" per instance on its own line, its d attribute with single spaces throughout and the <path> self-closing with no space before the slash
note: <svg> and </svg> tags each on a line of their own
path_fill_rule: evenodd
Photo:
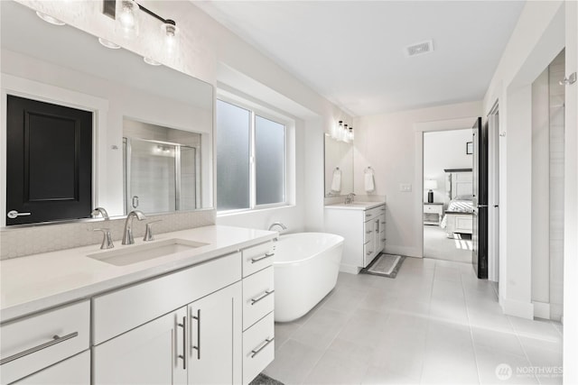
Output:
<svg viewBox="0 0 578 385">
<path fill-rule="evenodd" d="M 243 333 L 243 383 L 248 384 L 275 358 L 275 319 L 269 314 Z"/>
</svg>

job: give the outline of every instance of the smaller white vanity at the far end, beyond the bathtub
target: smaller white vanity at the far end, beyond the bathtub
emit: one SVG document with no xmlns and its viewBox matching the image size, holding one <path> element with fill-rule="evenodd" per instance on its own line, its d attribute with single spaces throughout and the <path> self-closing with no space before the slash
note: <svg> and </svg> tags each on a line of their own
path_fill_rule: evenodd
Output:
<svg viewBox="0 0 578 385">
<path fill-rule="evenodd" d="M 345 238 L 340 270 L 357 274 L 386 244 L 385 202 L 325 206 L 325 231 Z"/>
</svg>

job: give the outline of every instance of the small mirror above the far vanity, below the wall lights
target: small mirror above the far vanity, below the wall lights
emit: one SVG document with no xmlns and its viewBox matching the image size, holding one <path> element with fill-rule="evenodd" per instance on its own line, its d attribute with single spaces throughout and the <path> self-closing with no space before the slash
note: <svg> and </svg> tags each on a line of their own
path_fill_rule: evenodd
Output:
<svg viewBox="0 0 578 385">
<path fill-rule="evenodd" d="M 325 135 L 325 197 L 353 192 L 353 144 Z"/>
</svg>

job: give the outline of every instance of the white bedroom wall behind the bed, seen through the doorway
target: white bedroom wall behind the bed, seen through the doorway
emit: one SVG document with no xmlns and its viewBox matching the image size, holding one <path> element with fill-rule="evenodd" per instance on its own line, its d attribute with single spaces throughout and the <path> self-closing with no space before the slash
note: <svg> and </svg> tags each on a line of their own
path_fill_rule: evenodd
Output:
<svg viewBox="0 0 578 385">
<path fill-rule="evenodd" d="M 472 122 L 473 124 L 473 122 Z M 472 142 L 471 130 L 452 130 L 424 133 L 424 179 L 437 180 L 433 202 L 450 202 L 446 189 L 445 169 L 471 169 L 473 158 L 466 154 L 466 143 Z M 427 190 L 424 189 L 424 202 Z"/>
</svg>

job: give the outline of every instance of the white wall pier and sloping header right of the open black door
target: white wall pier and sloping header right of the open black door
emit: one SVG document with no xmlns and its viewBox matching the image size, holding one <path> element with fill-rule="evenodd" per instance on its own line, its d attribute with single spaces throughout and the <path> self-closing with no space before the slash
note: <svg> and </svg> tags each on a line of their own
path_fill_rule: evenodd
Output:
<svg viewBox="0 0 578 385">
<path fill-rule="evenodd" d="M 499 300 L 507 314 L 532 317 L 532 83 L 564 48 L 564 3 L 528 2 L 484 98 L 499 99 Z"/>
</svg>

